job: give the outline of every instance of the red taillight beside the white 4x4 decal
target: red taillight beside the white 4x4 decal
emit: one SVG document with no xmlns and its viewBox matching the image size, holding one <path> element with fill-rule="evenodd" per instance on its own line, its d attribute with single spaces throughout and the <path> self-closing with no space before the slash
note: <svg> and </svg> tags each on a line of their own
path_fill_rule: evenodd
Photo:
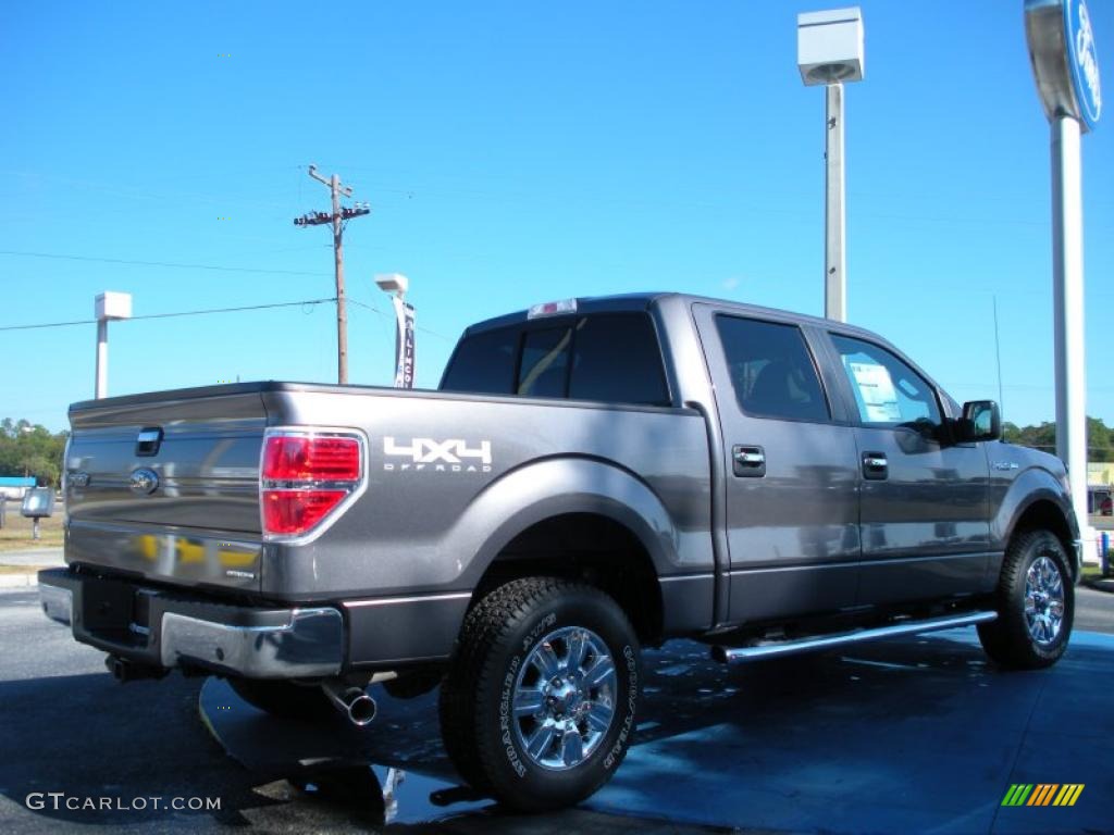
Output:
<svg viewBox="0 0 1114 835">
<path fill-rule="evenodd" d="M 355 493 L 362 479 L 358 435 L 268 430 L 260 472 L 263 536 L 296 539 L 310 533 Z"/>
</svg>

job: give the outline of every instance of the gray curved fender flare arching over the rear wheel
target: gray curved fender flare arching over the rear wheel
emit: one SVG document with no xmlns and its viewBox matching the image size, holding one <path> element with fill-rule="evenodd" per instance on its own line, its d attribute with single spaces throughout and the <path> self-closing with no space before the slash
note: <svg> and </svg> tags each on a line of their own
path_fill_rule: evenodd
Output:
<svg viewBox="0 0 1114 835">
<path fill-rule="evenodd" d="M 472 558 L 461 567 L 461 584 L 475 588 L 515 537 L 565 513 L 595 513 L 624 525 L 658 576 L 676 573 L 698 558 L 696 543 L 688 542 L 695 533 L 678 531 L 661 499 L 629 471 L 596 459 L 548 459 L 492 482 L 461 514 L 449 536 L 460 558 Z"/>
</svg>

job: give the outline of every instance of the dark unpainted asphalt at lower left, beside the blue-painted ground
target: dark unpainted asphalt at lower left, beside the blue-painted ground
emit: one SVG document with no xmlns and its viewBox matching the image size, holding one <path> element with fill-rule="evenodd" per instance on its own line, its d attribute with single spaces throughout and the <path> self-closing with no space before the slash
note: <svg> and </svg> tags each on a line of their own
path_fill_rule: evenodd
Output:
<svg viewBox="0 0 1114 835">
<path fill-rule="evenodd" d="M 350 798 L 335 800 L 320 790 L 301 790 L 281 776 L 252 773 L 231 758 L 198 716 L 204 679 L 172 675 L 117 684 L 105 669 L 102 652 L 77 644 L 68 629 L 43 617 L 33 588 L 0 590 L 0 658 L 4 835 L 98 829 L 145 835 L 354 828 L 459 835 L 714 832 L 588 808 L 515 816 L 490 803 L 451 819 L 384 827 L 381 795 L 372 798 L 380 805 L 370 807 Z M 422 778 L 414 775 L 402 785 L 413 792 Z M 219 808 L 205 808 L 214 803 Z M 107 806 L 98 808 L 100 804 Z M 192 811 L 192 805 L 202 808 Z"/>
</svg>

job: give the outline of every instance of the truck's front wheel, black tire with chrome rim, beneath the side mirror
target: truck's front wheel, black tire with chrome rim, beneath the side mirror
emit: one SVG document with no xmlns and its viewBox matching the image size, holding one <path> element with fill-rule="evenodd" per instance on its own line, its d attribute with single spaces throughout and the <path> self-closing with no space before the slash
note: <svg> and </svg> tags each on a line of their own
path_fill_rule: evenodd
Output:
<svg viewBox="0 0 1114 835">
<path fill-rule="evenodd" d="M 1027 531 L 1006 550 L 997 590 L 998 619 L 979 623 L 983 649 L 1012 669 L 1051 667 L 1067 649 L 1075 586 L 1067 554 L 1049 531 Z"/>
</svg>

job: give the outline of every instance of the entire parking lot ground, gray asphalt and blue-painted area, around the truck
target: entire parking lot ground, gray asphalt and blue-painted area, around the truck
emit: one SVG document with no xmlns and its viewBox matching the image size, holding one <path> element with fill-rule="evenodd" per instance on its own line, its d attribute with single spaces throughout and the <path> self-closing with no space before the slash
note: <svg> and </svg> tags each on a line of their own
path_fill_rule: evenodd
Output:
<svg viewBox="0 0 1114 835">
<path fill-rule="evenodd" d="M 1081 631 L 1042 672 L 996 671 L 962 630 L 736 668 L 671 644 L 648 654 L 637 741 L 613 783 L 582 808 L 519 817 L 457 787 L 433 696 L 378 694 L 359 731 L 263 716 L 215 679 L 123 687 L 33 589 L 10 590 L 0 831 L 1112 832 L 1114 596 L 1078 600 Z M 1016 783 L 1084 789 L 1073 807 L 1003 807 Z M 49 793 L 114 808 L 55 809 Z"/>
</svg>

